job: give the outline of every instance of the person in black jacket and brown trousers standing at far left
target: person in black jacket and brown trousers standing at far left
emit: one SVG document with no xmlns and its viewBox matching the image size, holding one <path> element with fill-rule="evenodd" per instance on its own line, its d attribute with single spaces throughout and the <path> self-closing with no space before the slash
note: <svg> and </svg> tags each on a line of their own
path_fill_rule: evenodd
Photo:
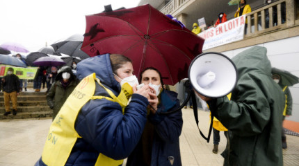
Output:
<svg viewBox="0 0 299 166">
<path fill-rule="evenodd" d="M 4 116 L 10 114 L 10 100 L 13 102 L 13 115 L 17 115 L 17 95 L 19 95 L 19 77 L 13 73 L 13 68 L 8 68 L 6 76 L 2 78 L 4 93 Z"/>
</svg>

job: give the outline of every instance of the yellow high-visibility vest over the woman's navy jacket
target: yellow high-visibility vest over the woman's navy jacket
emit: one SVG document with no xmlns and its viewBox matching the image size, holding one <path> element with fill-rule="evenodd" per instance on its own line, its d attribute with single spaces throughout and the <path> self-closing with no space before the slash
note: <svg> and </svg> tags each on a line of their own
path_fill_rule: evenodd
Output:
<svg viewBox="0 0 299 166">
<path fill-rule="evenodd" d="M 108 92 L 111 98 L 94 96 L 95 81 Z M 65 104 L 63 104 L 63 107 L 51 124 L 45 147 L 42 152 L 42 161 L 49 166 L 65 165 L 77 138 L 81 138 L 74 129 L 74 124 L 79 111 L 86 102 L 89 100 L 105 98 L 106 100 L 118 102 L 122 107 L 122 113 L 124 113 L 124 108 L 127 106 L 132 93 L 133 90 L 131 86 L 128 83 L 125 83 L 122 86 L 120 95 L 116 97 L 112 91 L 106 89 L 99 79 L 95 77 L 95 73 L 92 73 L 81 80 L 69 98 L 67 98 Z M 104 154 L 99 154 L 95 165 L 115 166 L 122 165 L 122 163 L 123 160 L 113 160 Z"/>
</svg>

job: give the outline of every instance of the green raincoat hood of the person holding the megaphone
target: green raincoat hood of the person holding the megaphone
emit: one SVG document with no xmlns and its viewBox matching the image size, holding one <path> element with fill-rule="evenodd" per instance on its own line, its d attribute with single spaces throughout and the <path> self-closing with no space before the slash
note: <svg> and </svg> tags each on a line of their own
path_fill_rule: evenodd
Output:
<svg viewBox="0 0 299 166">
<path fill-rule="evenodd" d="M 233 57 L 232 61 L 236 64 L 239 75 L 259 71 L 271 77 L 271 64 L 266 54 L 266 48 L 254 46 Z"/>
</svg>

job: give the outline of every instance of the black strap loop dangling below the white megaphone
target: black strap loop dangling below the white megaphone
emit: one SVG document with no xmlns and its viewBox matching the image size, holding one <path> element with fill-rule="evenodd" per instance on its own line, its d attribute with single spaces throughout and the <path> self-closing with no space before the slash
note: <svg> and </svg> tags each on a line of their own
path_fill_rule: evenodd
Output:
<svg viewBox="0 0 299 166">
<path fill-rule="evenodd" d="M 195 97 L 195 92 L 191 91 L 191 99 L 192 99 L 192 104 L 193 104 L 193 113 L 194 113 L 194 118 L 195 118 L 195 122 L 197 124 L 197 128 L 200 131 L 200 127 L 198 126 L 198 113 L 197 113 L 197 102 L 196 102 L 196 97 Z M 211 131 L 212 131 L 212 127 L 213 127 L 213 112 L 211 112 L 211 124 L 210 124 L 210 128 L 209 128 L 209 134 L 208 134 L 208 138 L 206 136 L 204 136 L 204 134 L 202 133 L 202 131 L 200 131 L 200 135 L 202 136 L 202 138 L 204 138 L 204 140 L 207 140 L 207 142 L 209 143 L 210 138 L 211 138 Z"/>
</svg>

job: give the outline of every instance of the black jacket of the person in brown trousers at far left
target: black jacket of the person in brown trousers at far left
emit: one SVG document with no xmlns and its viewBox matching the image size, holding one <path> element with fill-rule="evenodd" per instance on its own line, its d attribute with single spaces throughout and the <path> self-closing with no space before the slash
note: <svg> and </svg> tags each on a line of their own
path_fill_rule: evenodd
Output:
<svg viewBox="0 0 299 166">
<path fill-rule="evenodd" d="M 17 75 L 6 75 L 3 78 L 3 91 L 6 93 L 17 91 L 17 93 L 19 93 L 19 77 L 17 77 Z"/>
</svg>

